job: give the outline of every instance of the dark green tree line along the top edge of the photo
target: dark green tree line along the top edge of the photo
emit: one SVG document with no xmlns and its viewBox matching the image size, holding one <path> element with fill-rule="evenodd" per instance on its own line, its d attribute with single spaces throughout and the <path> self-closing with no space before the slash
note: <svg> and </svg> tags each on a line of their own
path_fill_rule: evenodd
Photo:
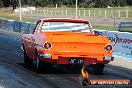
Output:
<svg viewBox="0 0 132 88">
<path fill-rule="evenodd" d="M 35 7 L 75 7 L 76 0 L 21 0 L 22 6 Z M 132 0 L 78 0 L 79 7 L 97 7 L 103 8 L 107 6 L 129 6 Z M 18 6 L 18 0 L 0 0 L 0 7 L 10 7 L 15 9 Z"/>
</svg>

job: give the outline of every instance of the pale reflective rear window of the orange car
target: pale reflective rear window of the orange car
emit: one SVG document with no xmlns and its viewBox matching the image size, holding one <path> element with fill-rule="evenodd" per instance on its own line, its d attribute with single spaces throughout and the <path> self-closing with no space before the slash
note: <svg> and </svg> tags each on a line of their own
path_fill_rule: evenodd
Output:
<svg viewBox="0 0 132 88">
<path fill-rule="evenodd" d="M 86 23 L 44 22 L 42 31 L 89 32 L 89 27 Z"/>
</svg>

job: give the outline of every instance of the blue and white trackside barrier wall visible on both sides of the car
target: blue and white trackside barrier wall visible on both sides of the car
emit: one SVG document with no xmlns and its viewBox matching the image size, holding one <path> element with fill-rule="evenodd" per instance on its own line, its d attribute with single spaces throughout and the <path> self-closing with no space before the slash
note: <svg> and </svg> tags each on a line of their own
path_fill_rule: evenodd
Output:
<svg viewBox="0 0 132 88">
<path fill-rule="evenodd" d="M 34 25 L 34 23 L 30 22 L 0 19 L 0 30 L 31 33 Z M 94 32 L 99 35 L 108 36 L 113 43 L 115 52 L 132 55 L 132 33 L 96 29 Z"/>
</svg>

